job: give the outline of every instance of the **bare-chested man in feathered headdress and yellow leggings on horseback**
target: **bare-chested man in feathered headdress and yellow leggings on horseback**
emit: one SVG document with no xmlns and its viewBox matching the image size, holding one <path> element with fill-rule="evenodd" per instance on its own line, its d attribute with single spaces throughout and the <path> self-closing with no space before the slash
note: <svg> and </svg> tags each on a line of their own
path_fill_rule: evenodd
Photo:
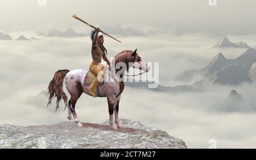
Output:
<svg viewBox="0 0 256 160">
<path fill-rule="evenodd" d="M 97 76 L 97 78 L 93 80 L 92 84 L 90 84 L 88 89 L 90 95 L 92 95 L 95 98 L 95 89 L 100 83 L 100 81 L 104 79 L 104 70 L 106 68 L 104 64 L 101 64 L 101 58 L 103 58 L 108 65 L 110 65 L 110 62 L 109 59 L 106 57 L 107 50 L 103 45 L 104 37 L 103 34 L 100 32 L 100 28 L 96 28 L 96 30 L 94 29 L 90 36 L 90 38 L 92 39 L 93 61 L 90 64 L 89 70 L 90 72 L 94 73 L 94 75 Z"/>
</svg>

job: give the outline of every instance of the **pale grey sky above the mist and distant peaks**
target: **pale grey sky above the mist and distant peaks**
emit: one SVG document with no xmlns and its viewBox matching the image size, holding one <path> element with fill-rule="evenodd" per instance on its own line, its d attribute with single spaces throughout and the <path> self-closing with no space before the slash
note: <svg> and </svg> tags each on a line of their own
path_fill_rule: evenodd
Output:
<svg viewBox="0 0 256 160">
<path fill-rule="evenodd" d="M 37 0 L 0 0 L 0 31 L 49 29 L 84 25 L 72 18 L 73 14 L 94 25 L 130 25 L 134 28 L 153 26 L 179 32 L 223 33 L 237 27 L 254 29 L 256 1 L 217 0 L 209 6 L 208 0 L 130 0 L 84 1 L 46 0 L 39 6 Z M 83 27 L 83 28 L 81 28 Z"/>
</svg>

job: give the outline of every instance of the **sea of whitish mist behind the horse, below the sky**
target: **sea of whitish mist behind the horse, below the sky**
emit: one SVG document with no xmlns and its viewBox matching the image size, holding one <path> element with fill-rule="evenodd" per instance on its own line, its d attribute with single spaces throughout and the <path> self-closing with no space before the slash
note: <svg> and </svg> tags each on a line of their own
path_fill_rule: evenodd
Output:
<svg viewBox="0 0 256 160">
<path fill-rule="evenodd" d="M 209 47 L 217 39 L 192 34 L 180 37 L 162 35 L 122 38 L 123 43 L 119 44 L 106 37 L 105 47 L 109 51 L 109 58 L 121 50 L 138 48 L 138 53 L 146 61 L 160 62 L 160 84 L 170 87 L 179 83 L 171 79 L 172 75 L 190 68 L 204 67 L 210 62 L 218 51 L 209 50 Z M 90 45 L 89 37 L 1 41 L 0 123 L 28 126 L 67 120 L 63 103 L 55 113 L 55 101 L 47 109 L 47 98 L 40 100 L 40 105 L 36 104 L 37 101 L 27 103 L 26 100 L 46 90 L 57 70 L 88 68 L 92 60 Z M 224 51 L 227 58 L 241 53 Z M 196 59 L 198 63 L 188 62 L 188 58 Z M 255 88 L 247 84 L 173 94 L 126 87 L 120 101 L 119 115 L 163 129 L 183 139 L 189 148 L 208 148 L 209 139 L 216 139 L 218 148 L 256 148 L 255 112 L 220 110 L 225 107 L 222 102 L 233 89 L 242 94 L 249 106 L 255 106 Z M 103 122 L 109 118 L 106 98 L 94 99 L 83 94 L 76 110 L 82 122 Z"/>
</svg>

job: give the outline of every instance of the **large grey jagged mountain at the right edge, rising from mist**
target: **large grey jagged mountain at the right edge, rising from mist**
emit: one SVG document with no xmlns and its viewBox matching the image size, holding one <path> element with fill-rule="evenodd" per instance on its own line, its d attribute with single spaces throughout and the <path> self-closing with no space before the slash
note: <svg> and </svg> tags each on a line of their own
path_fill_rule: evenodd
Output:
<svg viewBox="0 0 256 160">
<path fill-rule="evenodd" d="M 256 80 L 256 50 L 247 49 L 236 59 L 226 59 L 219 53 L 212 61 L 200 70 L 188 70 L 175 76 L 176 80 L 186 81 L 200 75 L 204 79 L 193 85 L 232 84 L 254 82 Z"/>
</svg>

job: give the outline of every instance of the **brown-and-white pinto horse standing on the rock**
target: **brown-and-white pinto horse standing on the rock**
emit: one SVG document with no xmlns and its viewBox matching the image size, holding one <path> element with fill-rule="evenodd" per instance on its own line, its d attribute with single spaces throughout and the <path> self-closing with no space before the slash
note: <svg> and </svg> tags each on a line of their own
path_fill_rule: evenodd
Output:
<svg viewBox="0 0 256 160">
<path fill-rule="evenodd" d="M 121 64 L 121 67 L 118 64 Z M 119 122 L 118 118 L 118 110 L 121 94 L 125 87 L 123 83 L 123 76 L 125 75 L 125 71 L 128 72 L 129 67 L 133 67 L 144 72 L 148 72 L 150 68 L 147 66 L 147 63 L 144 62 L 143 57 L 137 53 L 137 49 L 135 51 L 121 51 L 121 53 L 115 55 L 114 59 L 110 63 L 110 66 L 106 67 L 106 70 L 104 71 L 104 82 L 102 82 L 101 85 L 97 87 L 95 95 L 96 97 L 107 98 L 109 107 L 109 123 L 112 129 L 116 130 L 119 127 L 122 127 L 122 124 Z M 76 102 L 82 93 L 86 93 L 91 96 L 88 90 L 88 86 L 84 85 L 84 80 L 87 72 L 88 70 L 82 69 L 76 69 L 72 71 L 59 70 L 55 72 L 54 77 L 50 81 L 48 86 L 48 105 L 51 105 L 51 101 L 54 96 L 57 97 L 57 110 L 59 109 L 59 102 L 61 101 L 61 99 L 63 99 L 65 103 L 65 108 L 68 106 L 68 119 L 70 121 L 73 121 L 73 115 L 73 118 L 75 119 L 78 127 L 82 127 L 82 124 L 75 111 Z M 63 91 L 64 80 L 65 87 L 67 88 L 68 93 L 71 95 L 71 98 L 68 102 L 68 98 Z M 115 121 L 113 118 L 115 118 Z"/>
</svg>

